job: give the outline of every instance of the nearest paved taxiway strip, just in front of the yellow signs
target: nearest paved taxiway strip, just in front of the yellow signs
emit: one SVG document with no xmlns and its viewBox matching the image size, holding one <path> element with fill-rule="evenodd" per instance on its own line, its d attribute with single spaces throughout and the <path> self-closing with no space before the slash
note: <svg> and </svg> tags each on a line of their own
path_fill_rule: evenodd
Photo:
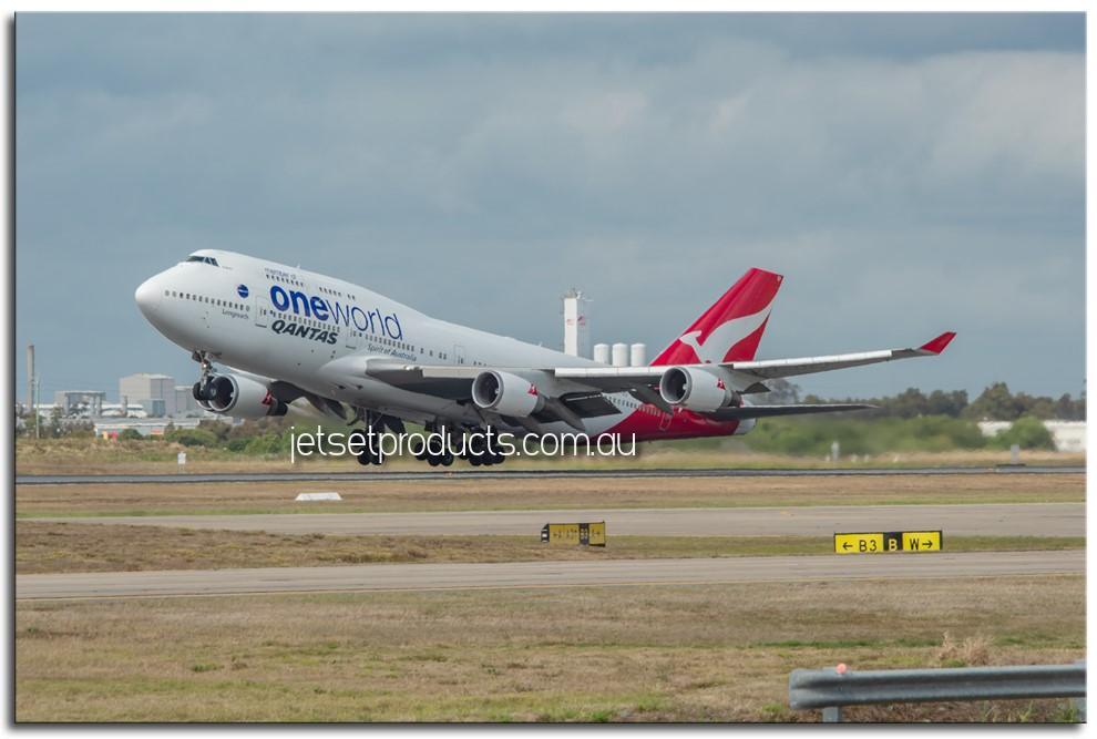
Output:
<svg viewBox="0 0 1097 739">
<path fill-rule="evenodd" d="M 994 577 L 1081 574 L 1085 560 L 1073 550 L 18 575 L 16 598 Z"/>
</svg>

